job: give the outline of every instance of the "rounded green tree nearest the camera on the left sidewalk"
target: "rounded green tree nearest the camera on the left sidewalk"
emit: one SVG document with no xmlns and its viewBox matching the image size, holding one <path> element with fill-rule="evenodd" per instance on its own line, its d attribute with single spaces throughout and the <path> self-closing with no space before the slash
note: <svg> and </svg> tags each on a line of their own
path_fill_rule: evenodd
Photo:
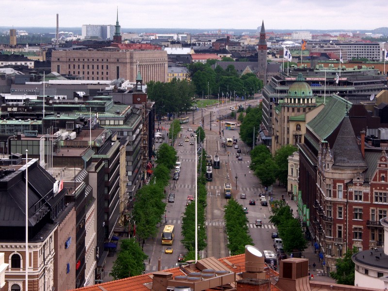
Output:
<svg viewBox="0 0 388 291">
<path fill-rule="evenodd" d="M 143 261 L 148 256 L 134 239 L 121 240 L 117 259 L 113 262 L 112 272 L 109 274 L 115 280 L 143 274 Z"/>
</svg>

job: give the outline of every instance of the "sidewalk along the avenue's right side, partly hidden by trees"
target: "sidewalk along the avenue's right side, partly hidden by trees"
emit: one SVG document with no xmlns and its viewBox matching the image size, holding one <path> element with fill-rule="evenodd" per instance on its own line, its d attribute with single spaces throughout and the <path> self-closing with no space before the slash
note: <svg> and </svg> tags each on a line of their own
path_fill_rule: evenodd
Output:
<svg viewBox="0 0 388 291">
<path fill-rule="evenodd" d="M 297 211 L 297 205 L 295 200 L 291 200 L 291 197 L 287 194 L 287 189 L 283 186 L 278 186 L 277 183 L 274 184 L 273 190 L 272 190 L 272 195 L 270 197 L 273 197 L 274 200 L 281 200 L 282 195 L 284 199 L 286 200 L 286 203 L 290 206 L 290 208 L 293 210 L 292 214 L 295 218 L 298 217 L 298 211 Z M 268 203 L 268 207 L 270 207 L 270 203 Z M 315 281 L 320 281 L 320 282 L 327 282 L 327 283 L 336 283 L 336 281 L 327 276 L 318 275 L 317 270 L 325 270 L 326 268 L 322 265 L 322 262 L 320 262 L 318 253 L 314 252 L 314 247 L 311 245 L 311 242 L 307 242 L 307 248 L 305 251 L 302 252 L 302 255 L 305 259 L 308 259 L 308 263 L 311 265 L 310 266 L 310 274 L 314 275 Z M 313 270 L 313 263 L 316 264 L 315 271 Z"/>
</svg>

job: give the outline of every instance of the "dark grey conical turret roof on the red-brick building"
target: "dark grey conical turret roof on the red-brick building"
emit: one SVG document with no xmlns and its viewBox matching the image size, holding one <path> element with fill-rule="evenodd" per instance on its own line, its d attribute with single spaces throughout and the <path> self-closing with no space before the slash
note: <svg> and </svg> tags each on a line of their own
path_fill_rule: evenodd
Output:
<svg viewBox="0 0 388 291">
<path fill-rule="evenodd" d="M 334 166 L 366 169 L 367 164 L 358 147 L 355 132 L 348 116 L 340 125 L 337 139 L 333 146 Z"/>
</svg>

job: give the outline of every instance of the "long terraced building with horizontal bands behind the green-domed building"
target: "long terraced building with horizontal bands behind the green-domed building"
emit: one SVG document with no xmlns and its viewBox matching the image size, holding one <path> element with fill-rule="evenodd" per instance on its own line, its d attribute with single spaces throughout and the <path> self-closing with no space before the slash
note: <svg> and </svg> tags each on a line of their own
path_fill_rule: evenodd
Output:
<svg viewBox="0 0 388 291">
<path fill-rule="evenodd" d="M 315 68 L 317 66 L 317 68 Z M 346 96 L 355 102 L 367 101 L 372 94 L 377 95 L 386 89 L 387 80 L 374 68 L 364 68 L 355 66 L 353 68 L 342 69 L 338 83 L 336 75 L 339 75 L 338 68 L 329 65 L 324 68 L 321 64 L 316 64 L 312 60 L 311 68 L 293 69 L 287 75 L 281 72 L 263 88 L 263 118 L 261 122 L 260 138 L 267 146 L 272 144 L 273 136 L 273 106 L 279 104 L 288 95 L 289 87 L 294 83 L 299 73 L 303 74 L 305 81 L 310 85 L 312 93 L 317 97 L 331 96 L 337 94 Z M 312 69 L 314 68 L 314 69 Z M 272 146 L 271 146 L 272 147 Z"/>
</svg>

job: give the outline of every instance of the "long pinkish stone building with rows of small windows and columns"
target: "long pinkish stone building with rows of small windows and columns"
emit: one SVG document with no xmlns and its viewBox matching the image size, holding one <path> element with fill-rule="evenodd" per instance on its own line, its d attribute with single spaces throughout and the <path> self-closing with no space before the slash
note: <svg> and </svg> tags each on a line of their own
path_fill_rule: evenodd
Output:
<svg viewBox="0 0 388 291">
<path fill-rule="evenodd" d="M 56 50 L 51 71 L 81 76 L 85 80 L 124 79 L 134 82 L 138 69 L 144 82 L 167 81 L 167 53 L 164 50 Z"/>
</svg>

